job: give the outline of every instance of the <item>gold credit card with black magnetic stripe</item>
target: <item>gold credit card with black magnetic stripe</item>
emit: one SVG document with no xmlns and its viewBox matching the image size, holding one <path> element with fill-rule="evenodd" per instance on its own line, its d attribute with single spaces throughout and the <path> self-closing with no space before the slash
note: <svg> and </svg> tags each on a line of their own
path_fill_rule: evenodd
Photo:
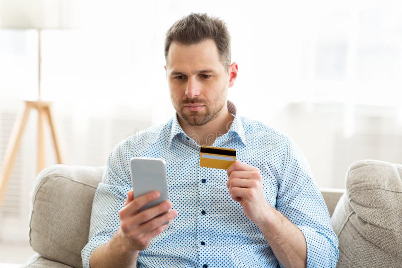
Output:
<svg viewBox="0 0 402 268">
<path fill-rule="evenodd" d="M 199 165 L 204 168 L 228 169 L 236 161 L 236 149 L 201 146 Z"/>
</svg>

